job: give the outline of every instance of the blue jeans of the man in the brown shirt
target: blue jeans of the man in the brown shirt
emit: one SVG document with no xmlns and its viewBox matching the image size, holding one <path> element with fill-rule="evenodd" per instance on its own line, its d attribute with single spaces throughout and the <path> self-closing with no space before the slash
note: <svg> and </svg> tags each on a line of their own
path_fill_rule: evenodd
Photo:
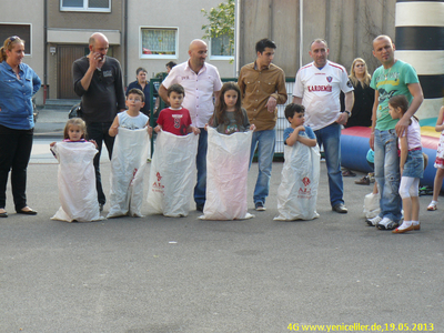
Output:
<svg viewBox="0 0 444 333">
<path fill-rule="evenodd" d="M 256 186 L 254 188 L 254 203 L 265 203 L 269 196 L 271 168 L 273 165 L 274 144 L 276 141 L 275 130 L 254 131 L 251 141 L 250 167 L 253 161 L 254 151 L 258 145 L 258 167 L 259 174 Z"/>
</svg>

